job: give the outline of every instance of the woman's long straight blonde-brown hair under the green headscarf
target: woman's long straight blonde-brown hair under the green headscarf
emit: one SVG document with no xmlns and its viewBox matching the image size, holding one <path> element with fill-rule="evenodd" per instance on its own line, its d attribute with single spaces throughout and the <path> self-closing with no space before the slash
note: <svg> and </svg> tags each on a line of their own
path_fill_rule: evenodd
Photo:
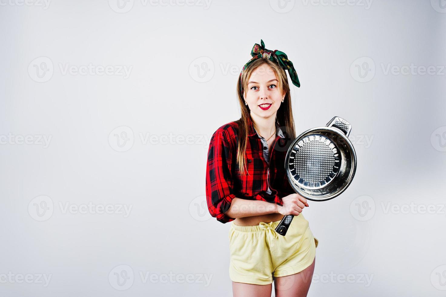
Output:
<svg viewBox="0 0 446 297">
<path fill-rule="evenodd" d="M 294 139 L 296 138 L 296 130 L 294 128 L 294 118 L 293 110 L 291 107 L 291 95 L 289 91 L 288 77 L 286 76 L 285 70 L 282 69 L 277 63 L 265 58 L 258 58 L 246 67 L 242 73 L 241 82 L 240 78 L 237 82 L 237 97 L 239 99 L 241 117 L 239 120 L 235 121 L 239 125 L 238 133 L 238 150 L 237 150 L 237 160 L 236 163 L 239 165 L 240 171 L 245 175 L 246 168 L 246 143 L 248 141 L 249 126 L 248 121 L 250 119 L 250 109 L 248 105 L 245 105 L 244 97 L 248 92 L 248 79 L 251 77 L 253 71 L 263 64 L 267 64 L 271 67 L 276 74 L 278 83 L 277 88 L 281 90 L 282 94 L 285 92 L 284 102 L 280 105 L 277 110 L 277 122 L 279 126 L 285 127 L 286 137 Z M 241 88 L 242 87 L 242 88 Z M 243 89 L 243 93 L 242 93 Z"/>
</svg>

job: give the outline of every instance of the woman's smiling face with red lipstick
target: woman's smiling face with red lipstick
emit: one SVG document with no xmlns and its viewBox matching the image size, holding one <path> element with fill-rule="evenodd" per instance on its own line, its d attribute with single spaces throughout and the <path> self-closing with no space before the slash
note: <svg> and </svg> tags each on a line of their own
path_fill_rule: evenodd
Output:
<svg viewBox="0 0 446 297">
<path fill-rule="evenodd" d="M 260 65 L 252 72 L 245 95 L 251 113 L 259 117 L 275 117 L 285 98 L 277 83 L 276 73 L 267 64 Z"/>
</svg>

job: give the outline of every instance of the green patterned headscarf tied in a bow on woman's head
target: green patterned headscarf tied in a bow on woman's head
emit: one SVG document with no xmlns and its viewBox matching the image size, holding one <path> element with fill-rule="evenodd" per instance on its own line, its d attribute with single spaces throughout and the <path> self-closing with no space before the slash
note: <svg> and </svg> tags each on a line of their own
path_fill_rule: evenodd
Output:
<svg viewBox="0 0 446 297">
<path fill-rule="evenodd" d="M 289 77 L 291 78 L 291 81 L 293 84 L 299 88 L 301 86 L 301 83 L 299 82 L 299 78 L 297 77 L 296 70 L 294 69 L 293 63 L 288 59 L 286 54 L 283 51 L 280 50 L 267 50 L 265 49 L 265 44 L 262 39 L 260 39 L 260 45 L 258 43 L 254 44 L 251 50 L 251 56 L 252 59 L 246 63 L 242 71 L 240 71 L 240 91 L 243 92 L 242 88 L 242 73 L 246 67 L 248 67 L 249 64 L 251 64 L 255 59 L 258 58 L 266 58 L 268 60 L 271 60 L 279 66 L 281 66 L 284 70 L 288 70 Z"/>
</svg>

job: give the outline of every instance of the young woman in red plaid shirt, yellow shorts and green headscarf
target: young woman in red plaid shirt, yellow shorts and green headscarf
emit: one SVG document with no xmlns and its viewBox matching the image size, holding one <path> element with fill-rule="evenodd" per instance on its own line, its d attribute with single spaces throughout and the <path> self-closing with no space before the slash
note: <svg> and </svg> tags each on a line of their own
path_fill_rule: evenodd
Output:
<svg viewBox="0 0 446 297">
<path fill-rule="evenodd" d="M 296 138 L 285 70 L 297 87 L 286 54 L 255 44 L 237 83 L 241 117 L 211 137 L 206 169 L 209 212 L 229 229 L 234 296 L 306 296 L 318 239 L 302 215 L 308 203 L 290 186 L 285 156 Z M 285 236 L 274 230 L 295 217 Z"/>
</svg>

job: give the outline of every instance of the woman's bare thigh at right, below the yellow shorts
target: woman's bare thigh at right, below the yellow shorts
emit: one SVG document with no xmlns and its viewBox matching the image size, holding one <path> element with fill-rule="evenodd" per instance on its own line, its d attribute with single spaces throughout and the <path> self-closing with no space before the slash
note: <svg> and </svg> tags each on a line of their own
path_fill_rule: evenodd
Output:
<svg viewBox="0 0 446 297">
<path fill-rule="evenodd" d="M 276 297 L 306 297 L 310 289 L 311 279 L 313 278 L 313 263 L 296 274 L 290 276 L 281 276 L 274 279 L 274 292 Z"/>
</svg>

